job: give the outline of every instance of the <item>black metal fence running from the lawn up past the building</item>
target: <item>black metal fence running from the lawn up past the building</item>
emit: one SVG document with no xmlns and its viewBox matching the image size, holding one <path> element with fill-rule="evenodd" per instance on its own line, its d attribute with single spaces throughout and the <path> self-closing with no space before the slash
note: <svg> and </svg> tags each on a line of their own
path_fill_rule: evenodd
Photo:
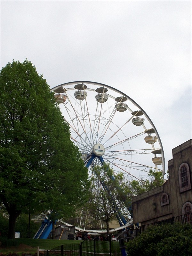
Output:
<svg viewBox="0 0 192 256">
<path fill-rule="evenodd" d="M 118 230 L 110 235 L 91 236 L 80 244 L 64 244 L 45 251 L 45 256 L 125 256 L 126 243 L 138 236 L 149 226 L 157 226 L 165 223 L 180 222 L 192 224 L 192 213 L 172 217 L 167 220 L 154 222 L 142 227 L 132 226 L 126 230 Z"/>
</svg>

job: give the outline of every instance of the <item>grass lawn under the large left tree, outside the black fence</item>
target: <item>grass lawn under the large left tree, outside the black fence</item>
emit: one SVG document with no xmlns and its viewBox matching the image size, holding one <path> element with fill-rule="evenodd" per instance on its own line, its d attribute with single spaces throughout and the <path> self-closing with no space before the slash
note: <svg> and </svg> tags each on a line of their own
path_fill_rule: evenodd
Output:
<svg viewBox="0 0 192 256">
<path fill-rule="evenodd" d="M 0 254 L 7 253 L 25 253 L 25 254 L 34 254 L 37 252 L 37 246 L 39 249 L 43 250 L 51 250 L 54 247 L 57 247 L 62 244 L 71 244 L 71 243 L 80 243 L 78 240 L 52 240 L 52 239 L 33 239 L 33 238 L 17 238 L 19 239 L 19 246 L 11 246 L 11 247 L 2 247 L 0 246 Z"/>
</svg>

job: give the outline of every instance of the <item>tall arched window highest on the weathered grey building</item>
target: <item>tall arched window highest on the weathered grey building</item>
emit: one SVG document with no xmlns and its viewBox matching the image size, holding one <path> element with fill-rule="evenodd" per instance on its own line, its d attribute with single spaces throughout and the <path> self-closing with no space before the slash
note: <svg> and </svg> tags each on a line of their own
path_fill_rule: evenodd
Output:
<svg viewBox="0 0 192 256">
<path fill-rule="evenodd" d="M 189 166 L 187 163 L 182 163 L 179 167 L 179 187 L 180 192 L 191 189 L 191 180 Z"/>
</svg>

